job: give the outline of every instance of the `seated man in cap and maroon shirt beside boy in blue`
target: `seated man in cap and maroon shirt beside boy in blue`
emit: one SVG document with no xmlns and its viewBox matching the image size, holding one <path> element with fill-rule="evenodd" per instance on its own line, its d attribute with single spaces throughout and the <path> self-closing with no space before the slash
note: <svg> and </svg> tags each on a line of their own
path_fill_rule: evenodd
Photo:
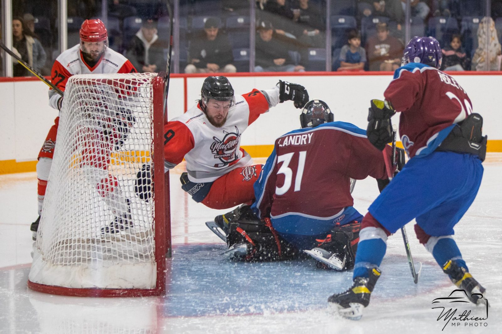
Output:
<svg viewBox="0 0 502 334">
<path fill-rule="evenodd" d="M 386 23 L 376 24 L 376 36 L 366 43 L 370 71 L 394 71 L 401 66 L 403 44 L 389 34 Z"/>
</svg>

